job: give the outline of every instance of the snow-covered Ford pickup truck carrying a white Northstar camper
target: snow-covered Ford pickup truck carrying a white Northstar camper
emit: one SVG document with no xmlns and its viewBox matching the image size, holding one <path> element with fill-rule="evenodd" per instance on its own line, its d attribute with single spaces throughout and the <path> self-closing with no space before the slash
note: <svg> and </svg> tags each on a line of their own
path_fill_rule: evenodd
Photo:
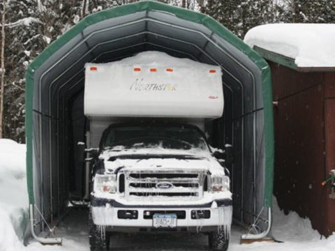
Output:
<svg viewBox="0 0 335 251">
<path fill-rule="evenodd" d="M 84 112 L 92 251 L 112 247 L 112 231 L 204 233 L 228 249 L 229 172 L 204 135 L 223 113 L 219 67 L 159 52 L 88 63 Z"/>
</svg>

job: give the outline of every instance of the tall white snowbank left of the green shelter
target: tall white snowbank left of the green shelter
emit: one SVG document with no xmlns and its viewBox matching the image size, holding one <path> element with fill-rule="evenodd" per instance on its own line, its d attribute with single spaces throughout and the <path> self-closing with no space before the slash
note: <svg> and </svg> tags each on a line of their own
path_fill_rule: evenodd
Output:
<svg viewBox="0 0 335 251">
<path fill-rule="evenodd" d="M 29 222 L 26 146 L 0 139 L 0 250 L 22 250 Z"/>
</svg>

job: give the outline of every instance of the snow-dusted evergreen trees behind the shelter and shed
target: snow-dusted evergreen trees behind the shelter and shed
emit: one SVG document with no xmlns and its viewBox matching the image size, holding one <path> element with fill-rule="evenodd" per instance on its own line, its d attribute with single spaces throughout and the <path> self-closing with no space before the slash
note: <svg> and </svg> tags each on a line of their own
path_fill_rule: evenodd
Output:
<svg viewBox="0 0 335 251">
<path fill-rule="evenodd" d="M 7 0 L 3 118 L 5 137 L 24 142 L 25 71 L 29 63 L 47 45 L 80 22 L 84 16 L 134 1 L 137 0 Z M 161 0 L 161 2 L 206 13 L 240 38 L 244 37 L 248 29 L 260 24 L 335 22 L 335 1 L 329 0 Z"/>
</svg>

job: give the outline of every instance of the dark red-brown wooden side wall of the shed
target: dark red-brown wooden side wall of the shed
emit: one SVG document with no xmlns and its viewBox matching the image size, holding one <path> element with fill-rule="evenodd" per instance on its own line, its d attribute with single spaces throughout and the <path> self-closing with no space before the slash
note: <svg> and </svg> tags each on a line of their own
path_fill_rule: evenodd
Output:
<svg viewBox="0 0 335 251">
<path fill-rule="evenodd" d="M 323 73 L 298 73 L 269 62 L 272 72 L 275 124 L 274 195 L 288 211 L 311 219 L 328 235 L 325 211 L 325 128 Z"/>
</svg>

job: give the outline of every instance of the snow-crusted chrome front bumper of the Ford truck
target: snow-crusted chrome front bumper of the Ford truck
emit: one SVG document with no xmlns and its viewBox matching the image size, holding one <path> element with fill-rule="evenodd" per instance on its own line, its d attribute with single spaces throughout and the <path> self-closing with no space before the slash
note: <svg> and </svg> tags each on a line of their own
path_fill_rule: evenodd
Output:
<svg viewBox="0 0 335 251">
<path fill-rule="evenodd" d="M 136 218 L 124 219 L 118 215 L 119 211 L 136 211 Z M 156 211 L 182 212 L 177 219 L 175 229 L 154 229 L 152 218 L 145 215 Z M 207 218 L 194 218 L 194 211 L 208 211 Z M 124 205 L 113 199 L 91 198 L 91 213 L 95 225 L 107 227 L 109 231 L 214 231 L 218 227 L 230 229 L 232 223 L 232 200 L 222 199 L 207 204 L 193 205 Z M 193 216 L 192 216 L 193 215 Z"/>
</svg>

